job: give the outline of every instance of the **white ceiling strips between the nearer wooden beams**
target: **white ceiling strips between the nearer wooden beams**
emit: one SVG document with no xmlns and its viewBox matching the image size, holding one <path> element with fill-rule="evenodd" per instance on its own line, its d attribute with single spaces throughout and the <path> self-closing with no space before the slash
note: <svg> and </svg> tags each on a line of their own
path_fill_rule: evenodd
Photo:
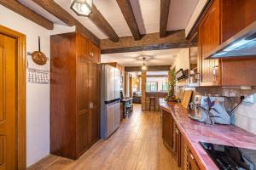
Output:
<svg viewBox="0 0 256 170">
<path fill-rule="evenodd" d="M 49 14 L 44 8 L 39 7 L 31 0 L 19 0 L 27 7 L 32 8 L 38 14 L 42 14 L 45 18 L 53 21 L 55 24 L 65 25 L 52 14 Z M 130 0 L 136 20 L 141 34 L 159 32 L 160 30 L 160 0 Z M 199 0 L 172 0 L 170 7 L 169 20 L 167 30 L 185 29 L 189 23 L 189 19 L 195 10 L 195 6 Z M 108 38 L 100 31 L 94 23 L 88 18 L 78 16 L 70 9 L 71 0 L 55 0 L 68 13 L 72 14 L 87 29 L 93 32 L 100 39 Z M 94 0 L 96 8 L 102 13 L 113 30 L 119 37 L 131 36 L 131 31 L 125 21 L 125 18 L 116 3 L 116 0 Z"/>
</svg>

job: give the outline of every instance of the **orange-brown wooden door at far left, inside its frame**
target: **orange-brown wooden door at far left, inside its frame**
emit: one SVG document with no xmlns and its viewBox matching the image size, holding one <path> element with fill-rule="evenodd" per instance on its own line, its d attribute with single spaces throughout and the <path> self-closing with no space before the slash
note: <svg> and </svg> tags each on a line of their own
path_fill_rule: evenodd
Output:
<svg viewBox="0 0 256 170">
<path fill-rule="evenodd" d="M 0 169 L 16 169 L 16 40 L 0 34 Z"/>
</svg>

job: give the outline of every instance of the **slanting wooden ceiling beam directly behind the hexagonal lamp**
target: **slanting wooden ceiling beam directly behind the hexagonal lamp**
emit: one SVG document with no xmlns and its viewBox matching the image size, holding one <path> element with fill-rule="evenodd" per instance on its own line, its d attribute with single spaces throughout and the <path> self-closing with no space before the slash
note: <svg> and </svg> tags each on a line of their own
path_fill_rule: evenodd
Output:
<svg viewBox="0 0 256 170">
<path fill-rule="evenodd" d="M 100 11 L 96 6 L 92 5 L 92 13 L 89 16 L 89 19 L 102 31 L 104 32 L 111 41 L 119 42 L 119 36 L 109 25 L 108 21 L 103 17 Z"/>
</svg>

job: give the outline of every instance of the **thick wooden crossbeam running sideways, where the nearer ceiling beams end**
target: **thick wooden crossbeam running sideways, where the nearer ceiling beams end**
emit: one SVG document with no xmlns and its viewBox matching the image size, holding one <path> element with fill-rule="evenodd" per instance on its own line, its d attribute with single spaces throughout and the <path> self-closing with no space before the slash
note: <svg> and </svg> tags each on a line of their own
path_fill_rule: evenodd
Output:
<svg viewBox="0 0 256 170">
<path fill-rule="evenodd" d="M 188 47 L 184 30 L 169 31 L 164 38 L 160 38 L 159 33 L 152 33 L 143 35 L 139 41 L 135 41 L 132 36 L 120 37 L 119 42 L 112 42 L 109 39 L 101 40 L 102 54 Z"/>
</svg>

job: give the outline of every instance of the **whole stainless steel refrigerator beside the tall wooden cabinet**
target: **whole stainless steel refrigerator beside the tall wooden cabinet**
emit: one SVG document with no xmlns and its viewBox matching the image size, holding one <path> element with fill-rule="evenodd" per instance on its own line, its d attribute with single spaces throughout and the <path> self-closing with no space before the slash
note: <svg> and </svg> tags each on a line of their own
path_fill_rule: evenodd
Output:
<svg viewBox="0 0 256 170">
<path fill-rule="evenodd" d="M 120 71 L 102 64 L 101 138 L 107 139 L 120 124 Z"/>
</svg>

